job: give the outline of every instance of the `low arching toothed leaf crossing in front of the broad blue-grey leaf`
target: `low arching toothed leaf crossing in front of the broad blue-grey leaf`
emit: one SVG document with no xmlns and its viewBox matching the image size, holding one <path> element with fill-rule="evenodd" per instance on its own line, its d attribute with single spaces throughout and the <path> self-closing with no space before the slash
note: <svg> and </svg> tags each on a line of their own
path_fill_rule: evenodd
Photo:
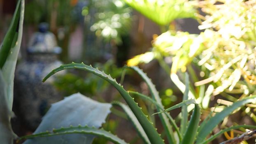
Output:
<svg viewBox="0 0 256 144">
<path fill-rule="evenodd" d="M 127 144 L 124 140 L 120 139 L 116 135 L 113 135 L 110 132 L 107 132 L 103 129 L 98 129 L 94 127 L 88 127 L 88 126 L 77 126 L 77 127 L 67 127 L 67 128 L 60 128 L 60 129 L 53 129 L 51 132 L 40 132 L 35 135 L 26 135 L 23 137 L 20 137 L 21 139 L 37 139 L 38 137 L 51 137 L 56 135 L 67 135 L 67 134 L 90 134 L 95 135 L 98 137 L 103 137 L 105 139 L 108 139 L 109 141 L 113 142 L 114 144 Z"/>
</svg>

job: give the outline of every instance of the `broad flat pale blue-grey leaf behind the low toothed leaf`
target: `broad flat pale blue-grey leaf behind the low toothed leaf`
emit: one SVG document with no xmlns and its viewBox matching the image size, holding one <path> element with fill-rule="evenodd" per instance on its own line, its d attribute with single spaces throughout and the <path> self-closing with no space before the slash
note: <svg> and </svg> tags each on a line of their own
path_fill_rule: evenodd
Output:
<svg viewBox="0 0 256 144">
<path fill-rule="evenodd" d="M 80 93 L 70 95 L 64 100 L 52 104 L 34 134 L 70 125 L 88 125 L 99 128 L 102 123 L 105 123 L 105 118 L 110 113 L 111 107 L 112 105 L 109 103 L 97 102 Z M 28 139 L 24 144 L 91 144 L 93 138 L 93 135 L 57 135 Z"/>
</svg>

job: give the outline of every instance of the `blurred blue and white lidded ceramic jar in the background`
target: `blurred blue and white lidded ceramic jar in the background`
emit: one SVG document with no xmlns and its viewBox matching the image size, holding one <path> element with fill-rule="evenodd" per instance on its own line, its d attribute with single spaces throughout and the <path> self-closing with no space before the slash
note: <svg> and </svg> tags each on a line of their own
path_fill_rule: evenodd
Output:
<svg viewBox="0 0 256 144">
<path fill-rule="evenodd" d="M 39 32 L 30 39 L 26 60 L 16 67 L 14 102 L 17 111 L 14 112 L 19 113 L 23 124 L 31 131 L 40 124 L 51 104 L 63 99 L 52 85 L 56 75 L 42 82 L 51 70 L 62 64 L 58 60 L 60 53 L 61 48 L 57 46 L 55 36 L 48 31 L 47 24 L 42 23 Z"/>
</svg>

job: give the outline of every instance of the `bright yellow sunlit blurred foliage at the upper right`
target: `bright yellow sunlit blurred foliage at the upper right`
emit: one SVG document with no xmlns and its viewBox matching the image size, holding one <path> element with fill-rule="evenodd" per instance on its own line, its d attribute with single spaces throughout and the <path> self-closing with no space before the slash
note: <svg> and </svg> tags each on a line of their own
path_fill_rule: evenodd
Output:
<svg viewBox="0 0 256 144">
<path fill-rule="evenodd" d="M 204 32 L 169 30 L 154 39 L 150 52 L 128 60 L 128 65 L 158 59 L 168 73 L 190 72 L 191 91 L 204 108 L 210 98 L 201 98 L 197 88 L 232 102 L 255 94 L 255 1 L 205 0 L 196 6 L 205 14 L 195 14 Z"/>
</svg>

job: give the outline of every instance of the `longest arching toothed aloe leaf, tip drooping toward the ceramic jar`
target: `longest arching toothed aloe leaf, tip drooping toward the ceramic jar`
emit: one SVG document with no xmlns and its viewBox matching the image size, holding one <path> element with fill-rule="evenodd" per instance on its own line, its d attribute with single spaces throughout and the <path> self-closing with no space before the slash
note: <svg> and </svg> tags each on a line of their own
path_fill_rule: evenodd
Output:
<svg viewBox="0 0 256 144">
<path fill-rule="evenodd" d="M 119 93 L 122 95 L 122 97 L 124 98 L 124 100 L 126 101 L 128 106 L 130 107 L 130 109 L 133 111 L 134 115 L 137 117 L 138 121 L 142 125 L 142 128 L 146 132 L 150 142 L 152 144 L 164 144 L 163 139 L 161 139 L 160 135 L 156 131 L 156 128 L 154 128 L 152 123 L 147 119 L 147 116 L 145 116 L 143 114 L 141 108 L 137 105 L 136 102 L 134 102 L 133 98 L 130 97 L 129 93 L 123 88 L 123 86 L 118 84 L 116 82 L 116 79 L 113 79 L 110 75 L 107 75 L 104 72 L 98 70 L 98 68 L 93 68 L 91 65 L 90 66 L 84 65 L 84 63 L 81 63 L 81 64 L 79 64 L 79 63 L 70 63 L 70 64 L 66 64 L 66 65 L 61 65 L 60 67 L 51 71 L 43 79 L 43 81 L 48 79 L 51 75 L 55 74 L 56 72 L 59 72 L 61 70 L 65 70 L 65 69 L 71 69 L 71 68 L 91 72 L 92 74 L 95 74 L 95 75 L 99 76 L 100 78 L 105 79 L 110 84 L 112 84 L 117 89 L 117 91 L 119 91 Z"/>
</svg>

